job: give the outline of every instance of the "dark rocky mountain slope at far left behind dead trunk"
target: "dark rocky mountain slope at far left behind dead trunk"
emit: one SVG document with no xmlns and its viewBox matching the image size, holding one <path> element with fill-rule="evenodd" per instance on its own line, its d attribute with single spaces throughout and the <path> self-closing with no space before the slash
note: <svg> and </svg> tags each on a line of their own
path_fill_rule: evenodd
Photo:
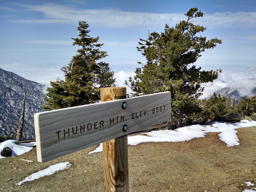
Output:
<svg viewBox="0 0 256 192">
<path fill-rule="evenodd" d="M 44 85 L 0 68 L 0 135 L 17 134 L 25 90 L 25 119 L 22 140 L 35 138 L 34 113 L 41 112 Z"/>
</svg>

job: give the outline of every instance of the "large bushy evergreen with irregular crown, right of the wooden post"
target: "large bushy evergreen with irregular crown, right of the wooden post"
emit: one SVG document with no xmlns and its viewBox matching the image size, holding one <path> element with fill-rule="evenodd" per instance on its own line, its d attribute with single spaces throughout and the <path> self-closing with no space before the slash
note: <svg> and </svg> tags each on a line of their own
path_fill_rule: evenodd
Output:
<svg viewBox="0 0 256 192">
<path fill-rule="evenodd" d="M 180 21 L 172 28 L 166 24 L 161 34 L 153 32 L 147 40 L 140 39 L 137 49 L 146 57 L 147 64 L 137 68 L 136 76 L 125 82 L 135 92 L 133 96 L 170 91 L 172 115 L 185 119 L 200 111 L 197 99 L 204 90 L 202 83 L 212 82 L 221 72 L 204 71 L 192 65 L 201 52 L 221 43 L 217 38 L 207 41 L 206 37 L 196 36 L 206 29 L 193 24 L 193 18 L 203 17 L 197 10 L 191 8 L 185 14 L 187 21 Z"/>
</svg>

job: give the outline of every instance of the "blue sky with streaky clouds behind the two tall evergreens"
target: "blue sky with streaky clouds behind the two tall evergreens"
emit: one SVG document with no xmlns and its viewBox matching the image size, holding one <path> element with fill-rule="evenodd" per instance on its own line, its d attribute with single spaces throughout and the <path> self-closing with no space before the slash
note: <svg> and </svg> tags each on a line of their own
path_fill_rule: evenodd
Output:
<svg viewBox="0 0 256 192">
<path fill-rule="evenodd" d="M 115 71 L 116 83 L 132 76 L 137 62 L 139 38 L 162 32 L 167 23 L 175 26 L 184 14 L 197 7 L 204 12 L 197 24 L 206 27 L 207 39 L 219 38 L 222 44 L 206 50 L 195 65 L 204 70 L 223 69 L 208 92 L 246 77 L 256 78 L 256 1 L 5 1 L 0 0 L 0 68 L 29 80 L 49 85 L 63 79 L 61 67 L 76 54 L 71 37 L 78 35 L 78 21 L 89 24 L 91 37 L 100 37 L 101 50 L 108 52 L 102 61 Z M 244 85 L 245 86 L 245 85 Z M 256 84 L 255 84 L 256 86 Z M 210 94 L 210 93 L 209 93 Z"/>
</svg>

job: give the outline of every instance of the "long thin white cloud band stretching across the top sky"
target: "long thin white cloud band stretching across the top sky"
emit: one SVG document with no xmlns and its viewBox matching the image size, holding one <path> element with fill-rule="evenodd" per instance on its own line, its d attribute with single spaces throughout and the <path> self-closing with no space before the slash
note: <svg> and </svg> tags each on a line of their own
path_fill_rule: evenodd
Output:
<svg viewBox="0 0 256 192">
<path fill-rule="evenodd" d="M 76 9 L 68 5 L 54 3 L 25 5 L 23 11 L 41 12 L 42 19 L 13 20 L 22 23 L 74 23 L 86 20 L 95 25 L 111 27 L 152 27 L 164 26 L 166 23 L 175 25 L 186 18 L 184 13 L 149 13 L 149 12 L 125 12 L 119 9 Z M 197 18 L 200 24 L 207 26 L 226 27 L 230 25 L 256 26 L 256 12 L 216 12 L 204 14 L 203 18 Z"/>
</svg>

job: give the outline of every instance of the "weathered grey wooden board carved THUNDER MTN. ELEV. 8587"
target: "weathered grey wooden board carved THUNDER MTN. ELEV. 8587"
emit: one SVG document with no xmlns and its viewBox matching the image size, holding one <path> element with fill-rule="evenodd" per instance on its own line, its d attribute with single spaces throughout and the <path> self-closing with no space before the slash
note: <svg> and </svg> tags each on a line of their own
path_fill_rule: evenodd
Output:
<svg viewBox="0 0 256 192">
<path fill-rule="evenodd" d="M 36 113 L 37 159 L 46 162 L 170 119 L 170 92 Z"/>
</svg>

